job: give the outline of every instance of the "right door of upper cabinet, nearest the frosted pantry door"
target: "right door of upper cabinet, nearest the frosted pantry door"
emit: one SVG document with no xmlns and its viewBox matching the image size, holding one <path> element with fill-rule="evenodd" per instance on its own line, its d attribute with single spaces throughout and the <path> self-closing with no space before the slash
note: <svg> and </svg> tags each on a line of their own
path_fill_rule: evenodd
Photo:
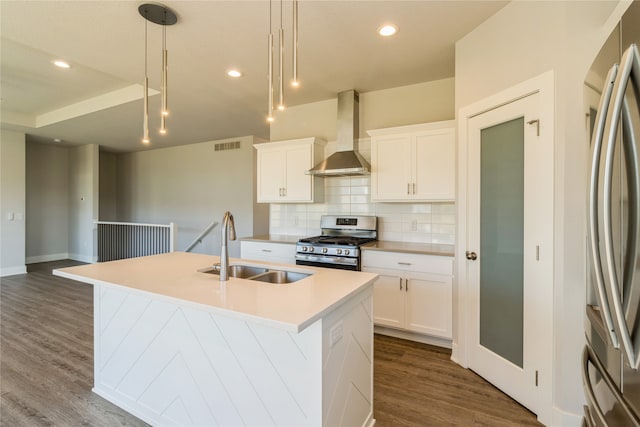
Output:
<svg viewBox="0 0 640 427">
<path fill-rule="evenodd" d="M 455 199 L 455 136 L 440 129 L 414 136 L 414 200 Z"/>
</svg>

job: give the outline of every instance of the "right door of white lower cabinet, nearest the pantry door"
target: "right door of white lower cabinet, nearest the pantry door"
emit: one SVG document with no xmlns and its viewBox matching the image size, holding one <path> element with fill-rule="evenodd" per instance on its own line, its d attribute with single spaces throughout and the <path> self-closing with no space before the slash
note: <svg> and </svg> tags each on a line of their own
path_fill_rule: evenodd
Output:
<svg viewBox="0 0 640 427">
<path fill-rule="evenodd" d="M 451 276 L 409 274 L 406 291 L 406 328 L 451 339 Z"/>
</svg>

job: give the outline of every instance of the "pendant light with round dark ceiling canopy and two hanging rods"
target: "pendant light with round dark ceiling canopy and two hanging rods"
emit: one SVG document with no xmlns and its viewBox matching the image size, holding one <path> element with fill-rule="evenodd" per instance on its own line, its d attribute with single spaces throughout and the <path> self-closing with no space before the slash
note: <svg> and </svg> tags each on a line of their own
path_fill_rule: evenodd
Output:
<svg viewBox="0 0 640 427">
<path fill-rule="evenodd" d="M 144 22 L 144 119 L 142 142 L 148 144 L 149 139 L 149 77 L 147 74 L 147 22 L 153 22 L 162 26 L 162 77 L 161 77 L 161 97 L 162 107 L 160 111 L 160 133 L 167 133 L 167 116 L 169 115 L 168 105 L 168 52 L 167 52 L 167 25 L 174 25 L 178 22 L 176 14 L 166 6 L 161 4 L 145 3 L 138 7 L 138 13 L 145 19 Z"/>
</svg>

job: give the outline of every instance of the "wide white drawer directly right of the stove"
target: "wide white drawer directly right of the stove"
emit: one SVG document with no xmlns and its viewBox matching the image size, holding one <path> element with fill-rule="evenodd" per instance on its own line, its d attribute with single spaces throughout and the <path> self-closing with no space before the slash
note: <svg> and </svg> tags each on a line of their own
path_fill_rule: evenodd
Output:
<svg viewBox="0 0 640 427">
<path fill-rule="evenodd" d="M 362 266 L 453 275 L 453 258 L 434 255 L 364 250 Z"/>
</svg>

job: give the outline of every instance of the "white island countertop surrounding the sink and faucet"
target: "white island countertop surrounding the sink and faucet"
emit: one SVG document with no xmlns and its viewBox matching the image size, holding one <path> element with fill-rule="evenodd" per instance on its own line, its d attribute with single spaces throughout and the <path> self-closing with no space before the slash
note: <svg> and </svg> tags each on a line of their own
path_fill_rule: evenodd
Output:
<svg viewBox="0 0 640 427">
<path fill-rule="evenodd" d="M 53 274 L 92 285 L 123 286 L 152 293 L 291 332 L 302 331 L 350 296 L 371 286 L 377 277 L 373 273 L 233 258 L 230 264 L 263 265 L 313 274 L 293 283 L 270 284 L 236 278 L 221 282 L 217 275 L 198 271 L 218 261 L 217 256 L 172 252 L 62 268 Z"/>
</svg>

